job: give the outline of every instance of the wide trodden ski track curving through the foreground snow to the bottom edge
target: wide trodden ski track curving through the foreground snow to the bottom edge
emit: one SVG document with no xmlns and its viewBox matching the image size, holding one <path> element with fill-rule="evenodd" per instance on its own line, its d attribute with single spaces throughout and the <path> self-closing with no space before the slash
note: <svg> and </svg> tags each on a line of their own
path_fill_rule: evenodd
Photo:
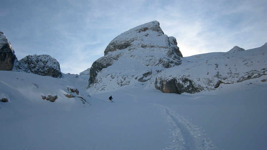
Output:
<svg viewBox="0 0 267 150">
<path fill-rule="evenodd" d="M 166 147 L 167 150 L 215 150 L 216 147 L 212 141 L 205 137 L 205 134 L 200 131 L 201 128 L 194 126 L 183 116 L 180 116 L 176 111 L 160 104 L 151 103 L 160 108 L 164 118 L 169 123 L 170 138 L 174 140 Z M 163 149 L 163 150 L 165 150 Z"/>
</svg>

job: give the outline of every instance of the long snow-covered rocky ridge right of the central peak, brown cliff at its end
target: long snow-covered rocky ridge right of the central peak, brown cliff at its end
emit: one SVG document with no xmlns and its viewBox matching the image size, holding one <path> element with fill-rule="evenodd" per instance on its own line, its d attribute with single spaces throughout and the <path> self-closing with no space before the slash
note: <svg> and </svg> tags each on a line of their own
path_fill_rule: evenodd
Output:
<svg viewBox="0 0 267 150">
<path fill-rule="evenodd" d="M 236 53 L 238 52 L 238 53 Z M 223 53 L 185 57 L 182 65 L 160 72 L 155 87 L 164 93 L 198 93 L 211 91 L 220 84 L 233 84 L 267 75 L 267 45 L 243 50 L 234 47 Z"/>
</svg>

